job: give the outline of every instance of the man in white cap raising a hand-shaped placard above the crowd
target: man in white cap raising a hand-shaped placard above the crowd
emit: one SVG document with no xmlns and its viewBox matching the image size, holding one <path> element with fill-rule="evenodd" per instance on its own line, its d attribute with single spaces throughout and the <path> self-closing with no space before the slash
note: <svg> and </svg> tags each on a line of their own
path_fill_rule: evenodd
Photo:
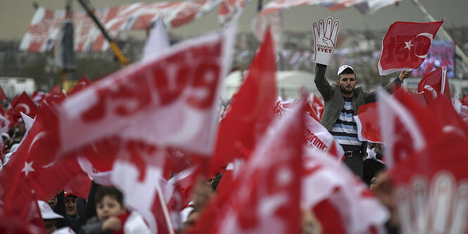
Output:
<svg viewBox="0 0 468 234">
<path fill-rule="evenodd" d="M 324 113 L 321 122 L 343 147 L 344 163 L 356 175 L 362 178 L 362 159 L 365 156 L 367 142 L 359 141 L 358 128 L 353 115 L 358 113 L 361 105 L 375 101 L 375 91 L 367 92 L 362 87 L 355 88 L 358 83 L 355 70 L 349 65 L 338 69 L 336 84 L 329 84 L 325 79 L 327 65 L 333 57 L 336 38 L 338 37 L 339 21 L 327 18 L 312 24 L 314 30 L 315 49 L 315 85 L 324 98 Z M 391 92 L 392 86 L 401 86 L 403 80 L 411 76 L 411 71 L 402 71 L 398 78 L 386 85 L 384 89 Z"/>
</svg>

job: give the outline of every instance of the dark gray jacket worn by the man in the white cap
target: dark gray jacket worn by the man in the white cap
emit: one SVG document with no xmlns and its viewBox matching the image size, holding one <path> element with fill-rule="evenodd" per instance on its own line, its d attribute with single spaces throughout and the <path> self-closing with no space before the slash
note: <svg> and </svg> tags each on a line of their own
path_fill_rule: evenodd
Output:
<svg viewBox="0 0 468 234">
<path fill-rule="evenodd" d="M 336 119 L 339 118 L 341 110 L 345 105 L 345 101 L 343 99 L 343 94 L 341 93 L 340 86 L 336 83 L 329 84 L 327 79 L 325 78 L 325 72 L 327 71 L 327 66 L 325 65 L 317 65 L 315 67 L 315 86 L 317 86 L 317 90 L 322 94 L 324 98 L 325 108 L 322 115 L 322 125 L 327 129 L 330 130 L 331 126 L 336 122 Z M 398 79 L 394 79 L 390 84 L 384 86 L 384 89 L 391 93 L 392 86 L 401 86 L 403 82 Z M 358 114 L 359 107 L 361 105 L 365 105 L 367 103 L 373 103 L 375 101 L 376 92 L 367 92 L 362 89 L 362 87 L 358 87 L 354 89 L 353 95 L 353 112 L 354 114 Z M 366 145 L 366 144 L 363 144 Z M 367 145 L 366 145 L 367 147 Z M 364 148 L 365 150 L 365 148 Z"/>
</svg>

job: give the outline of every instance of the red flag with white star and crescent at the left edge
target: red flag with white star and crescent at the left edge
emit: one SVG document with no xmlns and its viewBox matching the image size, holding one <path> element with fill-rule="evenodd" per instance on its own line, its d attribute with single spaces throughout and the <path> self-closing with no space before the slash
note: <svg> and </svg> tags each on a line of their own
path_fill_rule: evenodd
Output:
<svg viewBox="0 0 468 234">
<path fill-rule="evenodd" d="M 52 118 L 44 119 L 43 113 L 47 111 L 50 110 L 44 105 L 32 129 L 0 171 L 0 200 L 4 201 L 6 209 L 23 209 L 24 200 L 31 190 L 35 191 L 39 200 L 49 200 L 72 178 L 83 173 L 75 157 L 41 164 L 42 158 L 53 158 L 57 148 L 53 141 L 46 138 L 51 132 L 44 129 L 44 122 L 56 121 Z"/>
</svg>

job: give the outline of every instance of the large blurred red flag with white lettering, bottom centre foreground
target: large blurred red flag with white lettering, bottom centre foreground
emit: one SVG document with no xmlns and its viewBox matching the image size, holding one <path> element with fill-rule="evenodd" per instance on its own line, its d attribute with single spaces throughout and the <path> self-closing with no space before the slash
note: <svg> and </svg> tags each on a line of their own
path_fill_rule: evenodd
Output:
<svg viewBox="0 0 468 234">
<path fill-rule="evenodd" d="M 300 233 L 303 103 L 271 134 L 198 219 L 198 233 Z"/>
</svg>

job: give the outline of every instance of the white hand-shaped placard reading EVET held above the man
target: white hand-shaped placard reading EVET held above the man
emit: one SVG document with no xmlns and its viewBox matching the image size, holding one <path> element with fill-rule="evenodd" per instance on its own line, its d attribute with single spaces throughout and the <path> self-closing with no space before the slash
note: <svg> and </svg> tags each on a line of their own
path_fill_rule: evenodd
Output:
<svg viewBox="0 0 468 234">
<path fill-rule="evenodd" d="M 339 26 L 340 22 L 333 21 L 330 17 L 327 18 L 327 25 L 324 25 L 324 20 L 319 20 L 318 25 L 317 22 L 313 22 L 315 63 L 330 65 L 335 51 Z"/>
</svg>

